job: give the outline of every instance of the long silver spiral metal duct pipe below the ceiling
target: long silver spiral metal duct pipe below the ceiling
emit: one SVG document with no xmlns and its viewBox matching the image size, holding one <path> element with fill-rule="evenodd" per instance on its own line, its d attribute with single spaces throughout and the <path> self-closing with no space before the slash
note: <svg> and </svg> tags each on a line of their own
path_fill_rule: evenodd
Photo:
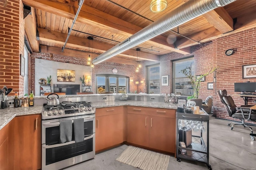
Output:
<svg viewBox="0 0 256 170">
<path fill-rule="evenodd" d="M 184 24 L 185 22 L 205 14 L 206 12 L 214 10 L 220 6 L 225 6 L 234 1 L 236 0 L 190 0 L 172 12 L 166 14 L 156 22 L 130 36 L 130 38 L 124 40 L 123 42 L 115 45 L 108 51 L 94 58 L 92 63 L 98 64 L 102 61 L 105 61 L 106 59 L 114 57 L 115 55 L 118 55 L 127 49 L 139 45 L 140 43 L 146 42 L 151 38 L 154 38 L 168 30 L 180 26 L 181 24 Z"/>
</svg>

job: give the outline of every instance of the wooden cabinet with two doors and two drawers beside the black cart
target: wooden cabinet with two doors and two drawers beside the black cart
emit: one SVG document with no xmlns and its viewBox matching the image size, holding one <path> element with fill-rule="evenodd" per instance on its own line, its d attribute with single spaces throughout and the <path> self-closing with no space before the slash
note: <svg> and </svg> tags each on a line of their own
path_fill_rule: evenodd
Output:
<svg viewBox="0 0 256 170">
<path fill-rule="evenodd" d="M 175 109 L 128 106 L 127 142 L 175 153 Z"/>
</svg>

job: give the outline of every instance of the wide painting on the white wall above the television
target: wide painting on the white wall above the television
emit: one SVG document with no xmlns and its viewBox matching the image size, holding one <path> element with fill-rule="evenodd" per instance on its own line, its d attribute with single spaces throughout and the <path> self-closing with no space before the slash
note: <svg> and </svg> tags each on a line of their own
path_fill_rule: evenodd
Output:
<svg viewBox="0 0 256 170">
<path fill-rule="evenodd" d="M 76 72 L 74 70 L 57 69 L 57 81 L 75 82 Z"/>
</svg>

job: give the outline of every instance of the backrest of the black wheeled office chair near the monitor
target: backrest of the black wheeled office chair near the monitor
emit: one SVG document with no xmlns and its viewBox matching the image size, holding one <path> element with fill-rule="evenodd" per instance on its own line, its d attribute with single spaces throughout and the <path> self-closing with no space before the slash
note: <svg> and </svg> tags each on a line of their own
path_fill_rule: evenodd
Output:
<svg viewBox="0 0 256 170">
<path fill-rule="evenodd" d="M 231 96 L 227 96 L 226 90 L 219 90 L 218 97 L 221 103 L 224 104 L 225 109 L 228 112 L 228 115 L 231 117 L 234 113 L 236 113 L 236 105 Z"/>
</svg>

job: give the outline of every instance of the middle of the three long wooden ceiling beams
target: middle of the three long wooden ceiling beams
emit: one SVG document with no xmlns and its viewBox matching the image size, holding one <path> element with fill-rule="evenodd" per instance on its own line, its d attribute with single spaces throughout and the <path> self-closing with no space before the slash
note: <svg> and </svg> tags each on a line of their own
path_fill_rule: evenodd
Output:
<svg viewBox="0 0 256 170">
<path fill-rule="evenodd" d="M 59 43 L 61 45 L 64 45 L 64 43 L 66 41 L 66 37 L 67 37 L 66 34 L 46 30 L 43 28 L 38 28 L 38 33 L 39 33 L 40 41 L 50 42 L 50 43 Z M 82 50 L 89 51 L 89 41 L 92 41 L 92 40 L 79 38 L 76 36 L 70 36 L 66 46 L 73 47 L 73 48 L 80 48 Z M 90 42 L 90 45 L 92 45 L 92 42 Z M 93 41 L 93 47 L 91 46 L 90 48 L 91 49 L 93 48 L 95 51 L 104 53 L 105 51 L 107 51 L 108 49 L 110 49 L 112 47 L 113 47 L 113 45 L 110 45 L 107 43 Z M 66 49 L 64 49 L 64 51 L 65 50 Z M 134 58 L 134 59 L 138 58 L 137 51 L 132 50 L 132 49 L 128 49 L 128 50 L 120 53 L 119 55 L 123 56 L 123 57 Z M 139 55 L 140 55 L 140 59 L 142 59 L 142 60 L 160 61 L 160 57 L 158 55 L 144 53 L 141 51 L 140 51 Z"/>
</svg>

